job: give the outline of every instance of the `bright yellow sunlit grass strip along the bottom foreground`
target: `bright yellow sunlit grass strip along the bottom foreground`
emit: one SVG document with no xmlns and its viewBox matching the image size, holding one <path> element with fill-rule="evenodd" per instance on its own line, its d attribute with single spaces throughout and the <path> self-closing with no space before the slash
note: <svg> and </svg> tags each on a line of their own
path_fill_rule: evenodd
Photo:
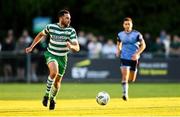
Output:
<svg viewBox="0 0 180 117">
<path fill-rule="evenodd" d="M 0 101 L 0 116 L 180 116 L 180 98 L 113 98 L 100 106 L 95 99 L 57 100 L 49 111 L 39 100 Z"/>
</svg>

